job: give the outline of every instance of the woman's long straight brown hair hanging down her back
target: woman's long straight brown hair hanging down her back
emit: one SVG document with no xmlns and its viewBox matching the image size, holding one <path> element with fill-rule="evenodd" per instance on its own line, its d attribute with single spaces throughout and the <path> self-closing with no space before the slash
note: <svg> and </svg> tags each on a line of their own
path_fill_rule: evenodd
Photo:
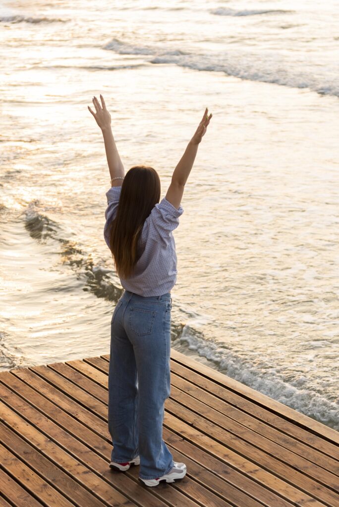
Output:
<svg viewBox="0 0 339 507">
<path fill-rule="evenodd" d="M 110 248 L 120 278 L 129 278 L 142 255 L 139 239 L 144 222 L 160 200 L 160 178 L 153 167 L 135 165 L 125 174 Z"/>
</svg>

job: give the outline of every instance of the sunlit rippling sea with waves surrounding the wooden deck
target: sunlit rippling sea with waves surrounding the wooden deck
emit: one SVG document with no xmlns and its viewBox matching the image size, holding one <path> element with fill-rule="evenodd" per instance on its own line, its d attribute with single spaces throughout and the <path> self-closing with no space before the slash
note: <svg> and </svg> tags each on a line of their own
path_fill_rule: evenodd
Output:
<svg viewBox="0 0 339 507">
<path fill-rule="evenodd" d="M 0 370 L 109 353 L 93 95 L 161 198 L 208 107 L 172 348 L 339 429 L 338 56 L 337 0 L 1 2 Z"/>
</svg>

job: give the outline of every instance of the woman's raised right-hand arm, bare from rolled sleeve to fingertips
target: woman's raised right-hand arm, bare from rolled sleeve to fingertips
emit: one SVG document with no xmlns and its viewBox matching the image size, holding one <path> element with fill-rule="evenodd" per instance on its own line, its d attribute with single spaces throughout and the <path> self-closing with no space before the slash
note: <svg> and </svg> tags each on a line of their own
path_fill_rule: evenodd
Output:
<svg viewBox="0 0 339 507">
<path fill-rule="evenodd" d="M 184 155 L 181 157 L 173 172 L 172 182 L 168 187 L 165 197 L 167 201 L 173 204 L 173 206 L 177 209 L 179 209 L 181 199 L 184 194 L 185 183 L 187 182 L 189 173 L 193 167 L 199 143 L 207 130 L 207 126 L 210 123 L 211 118 L 212 113 L 209 116 L 208 107 L 206 107 L 204 116 L 202 117 L 192 139 L 189 141 Z"/>
</svg>

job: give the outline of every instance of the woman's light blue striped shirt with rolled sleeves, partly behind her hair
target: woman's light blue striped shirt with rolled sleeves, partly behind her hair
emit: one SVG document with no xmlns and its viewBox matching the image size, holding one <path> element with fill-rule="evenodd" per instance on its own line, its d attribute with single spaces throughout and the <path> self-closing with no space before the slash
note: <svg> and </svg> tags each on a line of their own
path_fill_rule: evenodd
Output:
<svg viewBox="0 0 339 507">
<path fill-rule="evenodd" d="M 106 192 L 104 237 L 108 247 L 120 192 L 121 186 L 111 187 Z M 145 297 L 162 296 L 171 292 L 177 281 L 177 255 L 172 231 L 178 227 L 179 216 L 183 212 L 182 206 L 177 209 L 165 197 L 155 204 L 144 223 L 141 233 L 143 253 L 135 265 L 134 274 L 127 280 L 120 278 L 120 283 L 126 291 Z"/>
</svg>

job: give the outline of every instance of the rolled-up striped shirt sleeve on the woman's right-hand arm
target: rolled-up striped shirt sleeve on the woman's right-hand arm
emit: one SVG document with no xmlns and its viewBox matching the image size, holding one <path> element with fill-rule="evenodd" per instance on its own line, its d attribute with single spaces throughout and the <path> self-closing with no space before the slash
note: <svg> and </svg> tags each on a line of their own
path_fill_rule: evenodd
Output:
<svg viewBox="0 0 339 507">
<path fill-rule="evenodd" d="M 164 197 L 157 203 L 150 214 L 150 235 L 158 241 L 168 241 L 171 232 L 179 225 L 179 216 L 184 212 L 182 206 L 177 209 Z"/>
</svg>

